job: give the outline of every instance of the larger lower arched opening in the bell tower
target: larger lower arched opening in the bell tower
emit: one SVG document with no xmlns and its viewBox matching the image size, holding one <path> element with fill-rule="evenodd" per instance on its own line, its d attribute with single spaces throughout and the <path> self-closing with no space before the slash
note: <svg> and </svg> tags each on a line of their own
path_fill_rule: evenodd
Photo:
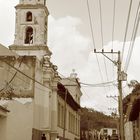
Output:
<svg viewBox="0 0 140 140">
<path fill-rule="evenodd" d="M 33 28 L 27 27 L 25 31 L 25 44 L 33 44 Z"/>
</svg>

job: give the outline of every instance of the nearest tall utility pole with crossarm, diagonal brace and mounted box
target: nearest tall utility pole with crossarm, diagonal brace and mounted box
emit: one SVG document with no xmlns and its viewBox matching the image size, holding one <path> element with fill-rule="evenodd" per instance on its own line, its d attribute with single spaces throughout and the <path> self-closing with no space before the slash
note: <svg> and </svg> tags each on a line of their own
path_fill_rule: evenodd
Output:
<svg viewBox="0 0 140 140">
<path fill-rule="evenodd" d="M 117 75 L 118 75 L 117 81 L 118 81 L 118 92 L 119 92 L 118 108 L 119 108 L 119 115 L 120 115 L 120 121 L 119 121 L 120 122 L 120 140 L 125 140 L 125 137 L 124 137 L 124 118 L 123 118 L 123 100 L 122 100 L 122 81 L 126 81 L 127 74 L 124 73 L 123 71 L 121 71 L 120 51 L 113 52 L 113 50 L 111 50 L 111 52 L 104 52 L 104 50 L 102 49 L 101 52 L 97 52 L 96 49 L 94 49 L 94 53 L 103 54 L 108 60 L 110 60 L 111 62 L 113 62 L 115 64 L 115 66 L 117 66 Z M 105 54 L 117 54 L 118 55 L 117 62 L 113 61 L 111 58 L 109 58 Z"/>
</svg>

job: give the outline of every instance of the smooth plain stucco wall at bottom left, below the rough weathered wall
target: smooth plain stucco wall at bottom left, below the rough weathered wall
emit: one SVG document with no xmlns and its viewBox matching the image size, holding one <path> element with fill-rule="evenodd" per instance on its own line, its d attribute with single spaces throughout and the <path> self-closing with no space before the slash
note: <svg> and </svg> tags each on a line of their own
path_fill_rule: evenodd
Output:
<svg viewBox="0 0 140 140">
<path fill-rule="evenodd" d="M 33 126 L 32 103 L 12 100 L 7 104 L 6 118 L 0 118 L 0 140 L 31 140 Z"/>
</svg>

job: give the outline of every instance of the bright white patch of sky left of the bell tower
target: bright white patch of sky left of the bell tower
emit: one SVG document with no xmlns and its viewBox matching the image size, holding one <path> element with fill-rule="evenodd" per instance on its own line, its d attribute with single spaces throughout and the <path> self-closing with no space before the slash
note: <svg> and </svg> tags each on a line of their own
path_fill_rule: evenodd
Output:
<svg viewBox="0 0 140 140">
<path fill-rule="evenodd" d="M 0 43 L 9 46 L 14 42 L 14 29 L 15 29 L 15 9 L 14 6 L 18 0 L 4 0 L 0 1 Z"/>
</svg>

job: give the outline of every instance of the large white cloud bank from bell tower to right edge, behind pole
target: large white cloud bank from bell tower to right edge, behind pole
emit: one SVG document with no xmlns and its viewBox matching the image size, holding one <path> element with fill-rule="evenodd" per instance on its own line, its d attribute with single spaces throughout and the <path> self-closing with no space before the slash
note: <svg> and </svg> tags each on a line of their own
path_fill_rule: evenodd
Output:
<svg viewBox="0 0 140 140">
<path fill-rule="evenodd" d="M 74 17 L 63 17 L 55 19 L 49 17 L 49 47 L 53 52 L 52 61 L 58 66 L 58 70 L 61 74 L 69 76 L 73 68 L 76 69 L 78 77 L 81 82 L 96 84 L 104 83 L 112 80 L 117 80 L 117 67 L 113 63 L 105 58 L 107 66 L 107 73 L 105 71 L 104 56 L 97 54 L 100 70 L 98 67 L 97 57 L 94 52 L 91 51 L 91 40 L 78 31 L 79 25 L 82 24 L 80 19 Z M 130 42 L 125 43 L 124 59 L 122 68 L 124 68 L 125 60 L 128 54 Z M 136 39 L 133 55 L 130 61 L 128 69 L 128 79 L 140 80 L 139 75 L 139 52 L 140 38 Z M 114 51 L 122 51 L 123 42 L 114 41 Z M 112 42 L 109 42 L 104 46 L 105 51 L 111 51 Z M 100 50 L 97 50 L 100 51 Z M 117 55 L 108 54 L 108 57 L 117 62 Z M 113 70 L 114 69 L 114 70 Z M 134 73 L 135 71 L 135 73 Z M 102 75 L 102 76 L 101 76 Z M 117 84 L 117 82 L 115 82 Z M 83 96 L 81 98 L 81 105 L 95 108 L 102 112 L 111 112 L 108 110 L 110 107 L 118 108 L 118 102 L 113 98 L 107 98 L 108 96 L 118 96 L 117 85 L 110 87 L 83 87 Z M 124 95 L 126 96 L 130 90 L 126 86 L 126 82 L 123 84 Z"/>
</svg>

